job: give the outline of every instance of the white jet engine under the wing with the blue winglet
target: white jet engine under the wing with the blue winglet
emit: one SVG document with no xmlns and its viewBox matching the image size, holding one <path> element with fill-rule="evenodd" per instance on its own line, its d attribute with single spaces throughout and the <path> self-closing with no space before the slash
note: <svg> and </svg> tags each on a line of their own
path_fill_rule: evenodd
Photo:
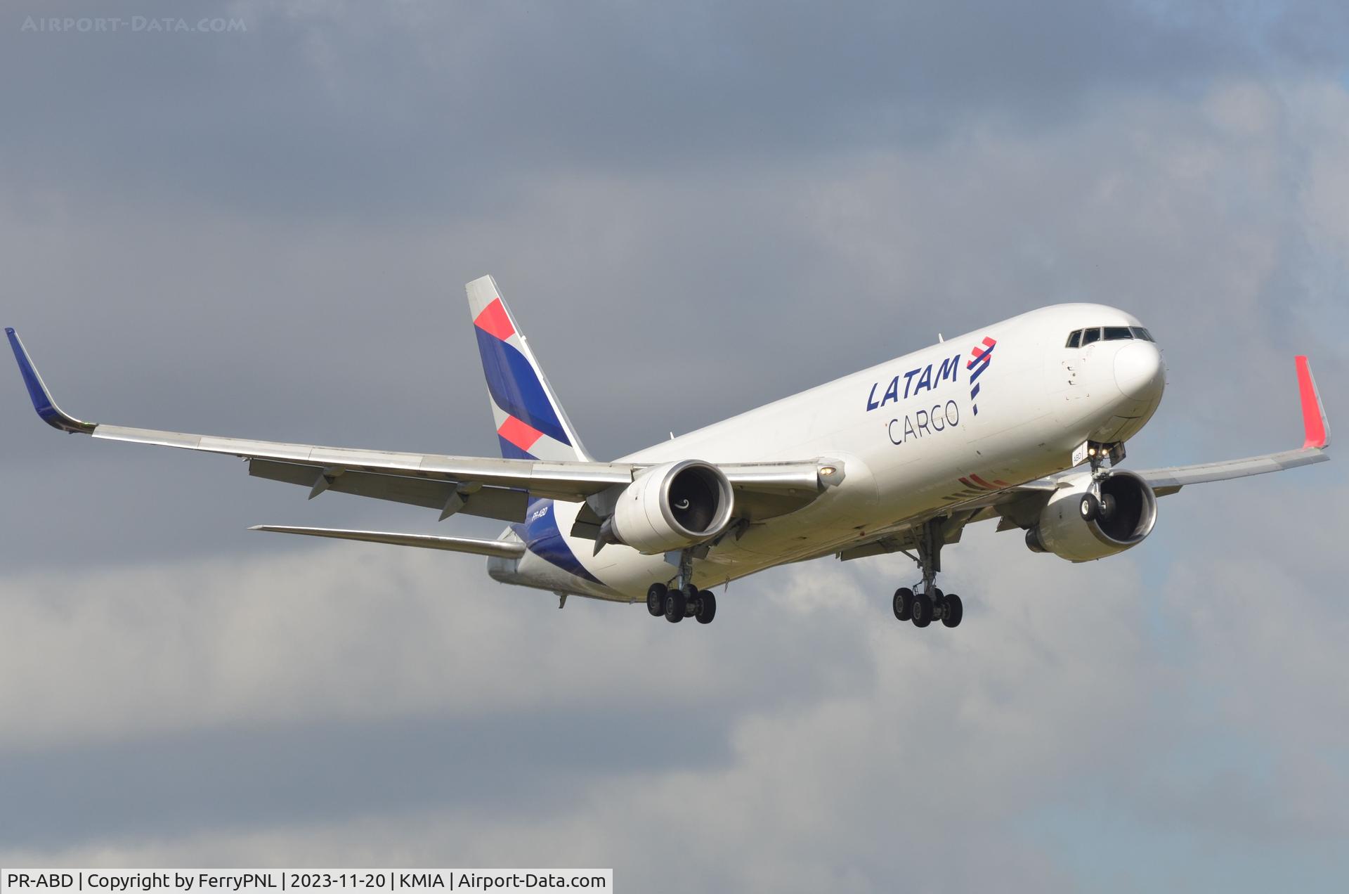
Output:
<svg viewBox="0 0 1349 894">
<path fill-rule="evenodd" d="M 735 496 L 716 466 L 697 459 L 642 473 L 618 497 L 610 531 L 646 555 L 683 550 L 715 537 L 731 521 Z"/>
</svg>

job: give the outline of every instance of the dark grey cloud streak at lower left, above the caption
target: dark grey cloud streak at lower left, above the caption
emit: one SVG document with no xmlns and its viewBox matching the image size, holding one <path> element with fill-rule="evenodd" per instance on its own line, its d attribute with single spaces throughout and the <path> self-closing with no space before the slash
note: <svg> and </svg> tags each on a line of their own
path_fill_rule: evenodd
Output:
<svg viewBox="0 0 1349 894">
<path fill-rule="evenodd" d="M 722 722 L 700 708 L 567 705 L 379 722 L 231 724 L 11 754 L 0 756 L 0 790 L 26 809 L 5 812 L 0 840 L 11 848 L 135 841 L 445 804 L 537 821 L 565 814 L 600 779 L 724 764 Z"/>
</svg>

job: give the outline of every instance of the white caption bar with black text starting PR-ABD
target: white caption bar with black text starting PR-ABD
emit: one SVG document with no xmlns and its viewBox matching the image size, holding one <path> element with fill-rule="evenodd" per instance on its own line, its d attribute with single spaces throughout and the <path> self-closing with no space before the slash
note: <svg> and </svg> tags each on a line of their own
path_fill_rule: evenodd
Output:
<svg viewBox="0 0 1349 894">
<path fill-rule="evenodd" d="M 7 870 L 0 894 L 275 891 L 612 891 L 614 870 Z"/>
</svg>

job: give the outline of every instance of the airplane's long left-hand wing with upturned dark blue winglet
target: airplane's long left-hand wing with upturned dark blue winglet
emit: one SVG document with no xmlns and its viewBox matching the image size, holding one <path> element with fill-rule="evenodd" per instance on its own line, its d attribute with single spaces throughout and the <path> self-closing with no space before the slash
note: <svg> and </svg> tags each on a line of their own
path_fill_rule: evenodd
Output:
<svg viewBox="0 0 1349 894">
<path fill-rule="evenodd" d="M 34 409 L 53 428 L 103 440 L 158 444 L 248 461 L 248 474 L 309 488 L 393 500 L 503 521 L 523 521 L 530 497 L 580 502 L 614 486 L 626 486 L 646 467 L 639 463 L 492 459 L 409 454 L 351 447 L 289 444 L 243 438 L 189 435 L 150 428 L 86 423 L 63 412 L 51 398 L 19 340 L 5 330 Z M 826 486 L 820 467 L 834 461 L 733 463 L 719 466 L 735 492 L 737 513 L 766 519 L 812 502 Z"/>
</svg>

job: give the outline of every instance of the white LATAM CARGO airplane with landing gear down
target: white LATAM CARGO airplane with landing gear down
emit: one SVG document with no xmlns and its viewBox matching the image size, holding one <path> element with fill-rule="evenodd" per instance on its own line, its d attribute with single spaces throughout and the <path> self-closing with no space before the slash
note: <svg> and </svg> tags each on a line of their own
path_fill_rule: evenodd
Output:
<svg viewBox="0 0 1349 894">
<path fill-rule="evenodd" d="M 1329 459 L 1330 427 L 1306 357 L 1295 358 L 1302 447 L 1135 471 L 1125 443 L 1156 412 L 1161 350 L 1143 323 L 1101 304 L 1059 304 L 975 330 L 654 444 L 594 459 L 567 417 L 496 281 L 467 285 L 499 459 L 189 435 L 81 421 L 51 398 L 5 330 L 38 416 L 65 432 L 240 456 L 248 474 L 326 493 L 507 521 L 495 540 L 301 525 L 317 537 L 487 556 L 503 583 L 638 602 L 708 624 L 715 586 L 823 556 L 902 552 L 919 579 L 897 620 L 958 627 L 936 586 L 942 550 L 997 520 L 1070 562 L 1130 550 L 1157 497 Z M 724 596 L 724 591 L 723 591 Z"/>
</svg>

